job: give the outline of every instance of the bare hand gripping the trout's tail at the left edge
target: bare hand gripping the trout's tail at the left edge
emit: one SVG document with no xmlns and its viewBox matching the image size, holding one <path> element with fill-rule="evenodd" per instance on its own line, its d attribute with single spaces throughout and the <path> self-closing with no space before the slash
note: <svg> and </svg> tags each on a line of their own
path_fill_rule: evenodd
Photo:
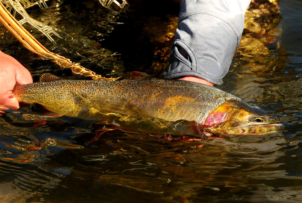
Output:
<svg viewBox="0 0 302 203">
<path fill-rule="evenodd" d="M 16 59 L 0 51 L 0 116 L 2 110 L 20 108 L 12 90 L 16 83 L 32 83 L 30 72 Z"/>
</svg>

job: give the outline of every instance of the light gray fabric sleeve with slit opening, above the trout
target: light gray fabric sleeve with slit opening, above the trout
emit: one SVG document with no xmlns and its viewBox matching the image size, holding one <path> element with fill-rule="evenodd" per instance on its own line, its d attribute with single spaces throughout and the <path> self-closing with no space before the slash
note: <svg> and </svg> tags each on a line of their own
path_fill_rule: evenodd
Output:
<svg viewBox="0 0 302 203">
<path fill-rule="evenodd" d="M 165 78 L 196 76 L 222 84 L 251 0 L 182 0 Z"/>
</svg>

